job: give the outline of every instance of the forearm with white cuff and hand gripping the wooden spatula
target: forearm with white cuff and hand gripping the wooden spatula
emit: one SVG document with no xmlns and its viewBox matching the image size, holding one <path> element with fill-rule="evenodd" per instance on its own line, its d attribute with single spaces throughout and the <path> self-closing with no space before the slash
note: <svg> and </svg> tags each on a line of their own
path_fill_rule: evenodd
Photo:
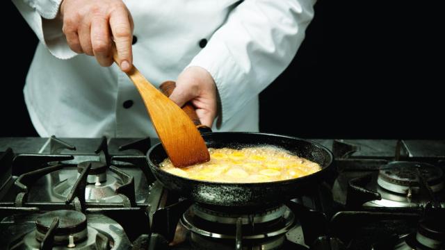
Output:
<svg viewBox="0 0 445 250">
<path fill-rule="evenodd" d="M 133 19 L 122 0 L 13 0 L 13 3 L 40 42 L 57 58 L 86 53 L 95 56 L 100 65 L 110 66 L 113 37 L 121 69 L 125 72 L 130 69 Z"/>
</svg>

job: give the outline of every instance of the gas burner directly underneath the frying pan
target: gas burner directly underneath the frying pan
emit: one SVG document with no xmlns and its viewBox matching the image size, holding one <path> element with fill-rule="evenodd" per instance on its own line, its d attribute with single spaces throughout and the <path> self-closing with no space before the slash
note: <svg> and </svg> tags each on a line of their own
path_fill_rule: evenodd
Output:
<svg viewBox="0 0 445 250">
<path fill-rule="evenodd" d="M 295 216 L 284 205 L 236 213 L 193 204 L 181 217 L 181 224 L 191 231 L 191 243 L 201 249 L 234 249 L 241 243 L 243 247 L 276 249 L 295 225 Z"/>
</svg>

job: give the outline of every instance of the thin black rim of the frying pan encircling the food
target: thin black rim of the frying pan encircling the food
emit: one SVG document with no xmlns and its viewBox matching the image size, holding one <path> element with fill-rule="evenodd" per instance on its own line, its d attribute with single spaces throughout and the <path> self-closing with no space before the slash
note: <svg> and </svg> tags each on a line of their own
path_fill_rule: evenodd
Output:
<svg viewBox="0 0 445 250">
<path fill-rule="evenodd" d="M 251 135 L 259 135 L 259 136 L 273 136 L 276 138 L 286 138 L 286 139 L 291 139 L 291 140 L 300 140 L 302 142 L 307 142 L 309 144 L 314 145 L 315 147 L 318 147 L 320 149 L 323 149 L 330 157 L 329 162 L 325 164 L 325 167 L 322 166 L 322 168 L 320 170 L 318 170 L 317 172 L 314 172 L 312 174 L 308 174 L 306 176 L 302 176 L 302 177 L 298 177 L 298 178 L 291 178 L 289 180 L 283 180 L 283 181 L 268 181 L 268 182 L 259 182 L 259 183 L 228 183 L 228 182 L 215 182 L 215 181 L 202 181 L 202 180 L 196 180 L 193 178 L 185 178 L 182 176 L 177 176 L 175 174 L 170 174 L 169 172 L 163 171 L 161 169 L 161 167 L 159 167 L 159 165 L 154 164 L 152 162 L 152 160 L 149 158 L 150 154 L 152 153 L 152 151 L 154 149 L 156 149 L 157 147 L 159 147 L 159 145 L 161 145 L 161 142 L 154 144 L 149 151 L 147 151 L 147 161 L 149 162 L 149 165 L 152 166 L 156 166 L 160 171 L 162 171 L 163 173 L 167 174 L 167 176 L 172 176 L 175 178 L 181 178 L 184 179 L 186 181 L 194 181 L 197 183 L 202 183 L 202 184 L 206 184 L 206 185 L 226 185 L 228 187 L 238 187 L 238 188 L 242 188 L 242 187 L 249 187 L 249 186 L 261 186 L 261 185 L 270 185 L 270 184 L 287 184 L 287 183 L 293 183 L 296 180 L 299 181 L 305 181 L 308 178 L 311 177 L 315 177 L 315 176 L 319 176 L 321 174 L 323 174 L 325 171 L 327 171 L 327 169 L 329 169 L 329 167 L 332 165 L 332 163 L 334 162 L 334 155 L 333 153 L 330 151 L 330 149 L 327 149 L 327 147 L 323 146 L 322 144 L 319 144 L 318 142 L 312 142 L 311 140 L 307 140 L 307 139 L 302 139 L 302 138 L 297 138 L 291 135 L 280 135 L 280 134 L 275 134 L 275 133 L 259 133 L 259 132 L 241 132 L 241 131 L 236 131 L 236 132 L 210 132 L 210 133 L 202 133 L 202 137 L 204 138 L 206 135 L 211 136 L 211 135 L 219 135 L 219 134 L 251 134 Z M 205 138 L 204 138 L 205 140 Z M 162 146 L 161 146 L 162 147 Z"/>
</svg>

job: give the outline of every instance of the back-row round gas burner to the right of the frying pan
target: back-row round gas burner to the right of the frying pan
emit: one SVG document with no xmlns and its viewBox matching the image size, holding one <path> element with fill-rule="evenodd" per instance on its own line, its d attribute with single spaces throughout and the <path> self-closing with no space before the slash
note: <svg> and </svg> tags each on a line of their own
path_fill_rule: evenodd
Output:
<svg viewBox="0 0 445 250">
<path fill-rule="evenodd" d="M 419 193 L 419 174 L 425 178 L 432 192 L 444 189 L 442 169 L 428 163 L 392 162 L 383 166 L 377 183 L 381 188 L 411 197 Z"/>
</svg>

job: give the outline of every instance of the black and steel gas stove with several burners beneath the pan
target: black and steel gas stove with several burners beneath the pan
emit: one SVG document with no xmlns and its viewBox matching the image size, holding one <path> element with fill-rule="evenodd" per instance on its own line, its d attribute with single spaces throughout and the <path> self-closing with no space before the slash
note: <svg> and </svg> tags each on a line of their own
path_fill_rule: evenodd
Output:
<svg viewBox="0 0 445 250">
<path fill-rule="evenodd" d="M 444 249 L 445 141 L 314 140 L 304 197 L 209 206 L 149 171 L 149 138 L 0 138 L 2 249 Z"/>
</svg>

